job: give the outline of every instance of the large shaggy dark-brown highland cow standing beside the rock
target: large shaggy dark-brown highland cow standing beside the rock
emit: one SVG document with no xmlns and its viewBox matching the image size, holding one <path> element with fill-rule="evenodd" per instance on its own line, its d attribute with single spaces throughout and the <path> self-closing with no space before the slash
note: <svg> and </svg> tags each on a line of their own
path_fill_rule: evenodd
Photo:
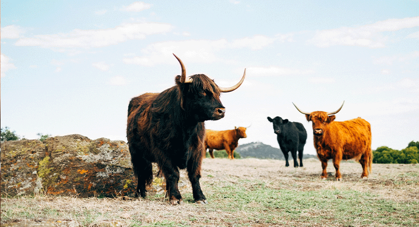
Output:
<svg viewBox="0 0 419 227">
<path fill-rule="evenodd" d="M 137 195 L 146 196 L 146 185 L 153 179 L 152 162 L 166 178 L 166 190 L 172 205 L 181 204 L 178 189 L 179 168 L 186 168 L 196 203 L 206 204 L 199 179 L 205 155 L 205 120 L 224 117 L 221 92 L 237 89 L 245 78 L 230 88 L 218 87 L 204 74 L 175 77 L 176 85 L 161 93 L 145 93 L 131 99 L 128 106 L 127 138 L 134 174 L 138 178 Z"/>
</svg>

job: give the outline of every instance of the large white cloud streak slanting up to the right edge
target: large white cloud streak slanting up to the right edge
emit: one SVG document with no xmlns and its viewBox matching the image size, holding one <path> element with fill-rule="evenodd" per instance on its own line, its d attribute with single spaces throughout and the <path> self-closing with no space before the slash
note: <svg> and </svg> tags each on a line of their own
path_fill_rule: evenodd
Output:
<svg viewBox="0 0 419 227">
<path fill-rule="evenodd" d="M 382 32 L 398 31 L 413 27 L 419 27 L 419 17 L 388 19 L 357 28 L 343 27 L 317 31 L 315 36 L 308 42 L 318 47 L 347 45 L 381 48 L 385 46 L 388 39 L 381 35 Z"/>
</svg>

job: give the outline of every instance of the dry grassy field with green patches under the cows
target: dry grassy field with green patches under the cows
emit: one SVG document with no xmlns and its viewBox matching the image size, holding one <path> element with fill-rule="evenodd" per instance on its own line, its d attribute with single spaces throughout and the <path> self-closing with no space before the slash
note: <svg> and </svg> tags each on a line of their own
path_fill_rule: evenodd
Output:
<svg viewBox="0 0 419 227">
<path fill-rule="evenodd" d="M 46 195 L 1 199 L 2 226 L 419 226 L 419 164 L 373 164 L 367 180 L 361 165 L 341 163 L 343 181 L 327 180 L 321 164 L 211 159 L 202 166 L 207 205 L 192 197 L 182 171 L 184 203 L 171 206 L 164 195 L 147 199 L 77 198 Z M 292 161 L 291 161 L 292 162 Z"/>
</svg>

